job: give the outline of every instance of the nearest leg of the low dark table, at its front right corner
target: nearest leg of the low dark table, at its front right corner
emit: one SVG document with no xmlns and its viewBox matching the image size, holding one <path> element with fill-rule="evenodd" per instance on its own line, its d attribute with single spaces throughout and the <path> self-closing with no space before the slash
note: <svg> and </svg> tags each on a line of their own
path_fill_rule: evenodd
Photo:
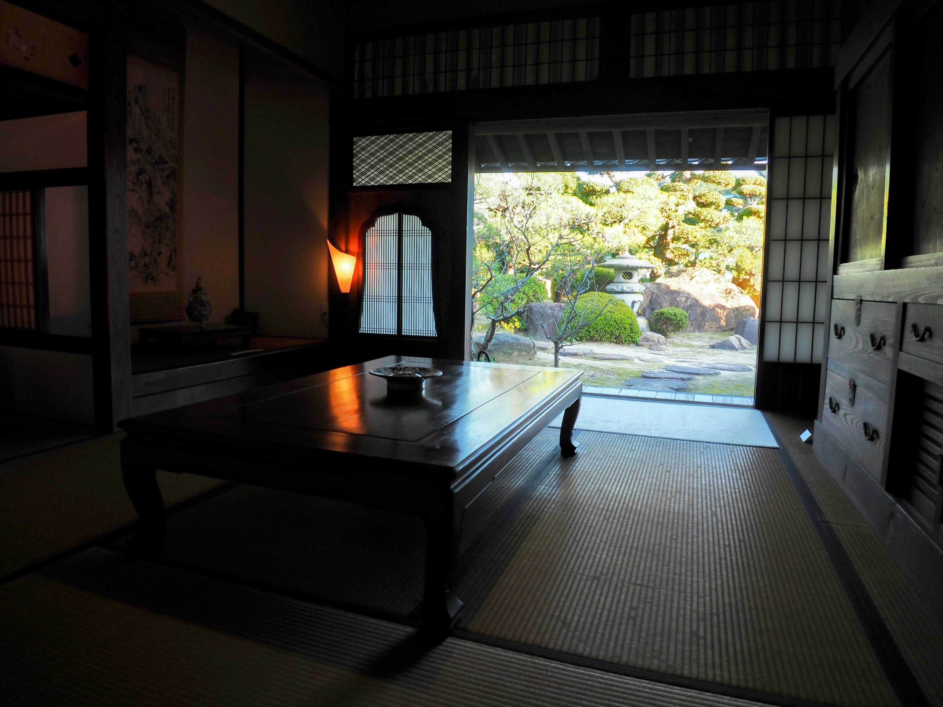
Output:
<svg viewBox="0 0 943 707">
<path fill-rule="evenodd" d="M 422 518 L 425 524 L 422 621 L 429 628 L 442 630 L 449 627 L 462 606 L 462 601 L 451 593 L 461 517 L 455 513 L 455 501 L 449 496 L 448 501 L 430 503 L 434 512 Z"/>
</svg>

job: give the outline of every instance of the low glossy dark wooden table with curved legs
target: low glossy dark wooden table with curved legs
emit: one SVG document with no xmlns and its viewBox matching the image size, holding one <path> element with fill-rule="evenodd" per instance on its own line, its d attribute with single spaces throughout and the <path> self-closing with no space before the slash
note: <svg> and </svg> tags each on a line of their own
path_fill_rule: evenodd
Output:
<svg viewBox="0 0 943 707">
<path fill-rule="evenodd" d="M 424 621 L 447 625 L 465 509 L 557 415 L 576 452 L 582 371 L 432 362 L 422 400 L 392 403 L 367 371 L 389 356 L 207 403 L 125 419 L 124 487 L 141 518 L 132 547 L 166 534 L 157 469 L 354 501 L 418 516 L 426 529 Z"/>
</svg>

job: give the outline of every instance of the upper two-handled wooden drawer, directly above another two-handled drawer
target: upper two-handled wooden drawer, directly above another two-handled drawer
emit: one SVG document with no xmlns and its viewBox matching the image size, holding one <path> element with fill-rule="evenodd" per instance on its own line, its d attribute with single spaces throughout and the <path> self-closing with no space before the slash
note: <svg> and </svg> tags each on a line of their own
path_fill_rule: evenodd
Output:
<svg viewBox="0 0 943 707">
<path fill-rule="evenodd" d="M 858 323 L 856 308 L 854 300 L 832 301 L 828 360 L 890 386 L 900 331 L 897 304 L 862 302 Z"/>
</svg>

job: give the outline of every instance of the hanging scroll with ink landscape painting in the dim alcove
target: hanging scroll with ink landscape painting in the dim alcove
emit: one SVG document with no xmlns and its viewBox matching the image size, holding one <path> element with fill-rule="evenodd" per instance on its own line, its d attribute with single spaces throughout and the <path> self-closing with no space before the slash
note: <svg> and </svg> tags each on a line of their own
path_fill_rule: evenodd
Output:
<svg viewBox="0 0 943 707">
<path fill-rule="evenodd" d="M 180 74 L 127 58 L 127 233 L 131 321 L 183 318 Z"/>
</svg>

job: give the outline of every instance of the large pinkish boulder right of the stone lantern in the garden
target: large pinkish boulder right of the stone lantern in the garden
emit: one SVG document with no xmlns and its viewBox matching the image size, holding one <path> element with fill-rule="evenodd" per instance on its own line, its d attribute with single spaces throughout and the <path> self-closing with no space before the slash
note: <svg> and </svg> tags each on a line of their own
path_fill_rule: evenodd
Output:
<svg viewBox="0 0 943 707">
<path fill-rule="evenodd" d="M 687 332 L 722 332 L 759 314 L 750 295 L 706 268 L 687 268 L 649 283 L 639 313 L 651 317 L 665 307 L 687 312 Z"/>
</svg>

